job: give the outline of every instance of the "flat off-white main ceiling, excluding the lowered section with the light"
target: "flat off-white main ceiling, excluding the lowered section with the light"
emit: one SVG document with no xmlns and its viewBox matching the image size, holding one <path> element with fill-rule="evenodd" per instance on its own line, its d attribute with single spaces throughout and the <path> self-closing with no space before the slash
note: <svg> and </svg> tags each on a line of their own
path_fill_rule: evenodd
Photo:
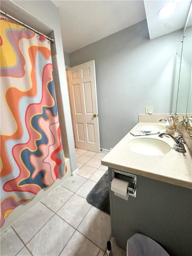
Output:
<svg viewBox="0 0 192 256">
<path fill-rule="evenodd" d="M 146 18 L 143 0 L 58 1 L 63 49 L 70 53 Z"/>
</svg>

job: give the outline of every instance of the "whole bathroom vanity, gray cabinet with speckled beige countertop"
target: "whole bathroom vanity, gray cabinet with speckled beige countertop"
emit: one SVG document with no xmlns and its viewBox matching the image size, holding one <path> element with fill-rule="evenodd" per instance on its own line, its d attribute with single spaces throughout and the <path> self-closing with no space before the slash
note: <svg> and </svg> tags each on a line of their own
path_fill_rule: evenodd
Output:
<svg viewBox="0 0 192 256">
<path fill-rule="evenodd" d="M 159 123 L 138 123 L 132 131 L 141 130 L 143 125 Z M 167 143 L 169 150 L 162 150 L 161 155 L 153 155 L 151 147 L 144 147 L 143 153 L 134 152 L 136 147 L 130 147 L 130 141 L 140 138 L 158 139 Z M 112 236 L 124 249 L 132 235 L 142 233 L 170 256 L 192 255 L 192 153 L 187 145 L 184 154 L 175 151 L 173 145 L 170 137 L 134 137 L 128 133 L 102 159 L 102 165 L 109 167 Z M 141 150 L 142 144 L 138 147 Z M 111 191 L 114 177 L 129 181 L 127 201 Z"/>
</svg>

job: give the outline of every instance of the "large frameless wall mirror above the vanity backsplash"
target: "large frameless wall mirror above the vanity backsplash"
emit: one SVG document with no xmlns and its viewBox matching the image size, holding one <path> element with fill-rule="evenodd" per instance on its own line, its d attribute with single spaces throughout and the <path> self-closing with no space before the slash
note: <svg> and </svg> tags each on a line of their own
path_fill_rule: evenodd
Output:
<svg viewBox="0 0 192 256">
<path fill-rule="evenodd" d="M 184 28 L 175 59 L 171 112 L 192 137 L 192 15 Z"/>
</svg>

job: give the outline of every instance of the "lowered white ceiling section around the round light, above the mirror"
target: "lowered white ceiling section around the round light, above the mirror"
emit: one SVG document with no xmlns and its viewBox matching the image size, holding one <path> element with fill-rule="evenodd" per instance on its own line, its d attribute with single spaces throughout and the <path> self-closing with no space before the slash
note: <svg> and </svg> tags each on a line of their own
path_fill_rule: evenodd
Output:
<svg viewBox="0 0 192 256">
<path fill-rule="evenodd" d="M 173 0 L 144 0 L 150 39 L 168 34 L 184 27 L 191 0 L 176 1 L 178 3 L 176 11 L 171 16 L 162 19 L 159 17 L 158 11 L 165 4 L 173 2 Z"/>
</svg>

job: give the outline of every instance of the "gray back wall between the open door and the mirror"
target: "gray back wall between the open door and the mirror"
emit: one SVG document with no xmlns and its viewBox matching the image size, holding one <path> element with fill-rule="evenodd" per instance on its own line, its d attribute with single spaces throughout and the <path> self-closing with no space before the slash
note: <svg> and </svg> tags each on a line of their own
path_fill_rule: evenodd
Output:
<svg viewBox="0 0 192 256">
<path fill-rule="evenodd" d="M 69 54 L 71 67 L 95 60 L 101 148 L 114 147 L 145 106 L 169 113 L 174 56 L 182 31 L 150 40 L 147 21 Z"/>
</svg>

